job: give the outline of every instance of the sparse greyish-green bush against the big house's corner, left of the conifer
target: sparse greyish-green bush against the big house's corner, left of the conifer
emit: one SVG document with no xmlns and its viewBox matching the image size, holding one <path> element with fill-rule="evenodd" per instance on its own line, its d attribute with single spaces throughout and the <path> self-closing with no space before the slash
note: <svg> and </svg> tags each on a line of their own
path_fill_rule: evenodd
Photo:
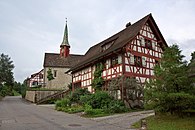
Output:
<svg viewBox="0 0 195 130">
<path fill-rule="evenodd" d="M 133 77 L 120 76 L 110 80 L 108 91 L 115 99 L 121 96 L 123 83 L 124 102 L 129 108 L 143 108 L 143 87 Z"/>
</svg>

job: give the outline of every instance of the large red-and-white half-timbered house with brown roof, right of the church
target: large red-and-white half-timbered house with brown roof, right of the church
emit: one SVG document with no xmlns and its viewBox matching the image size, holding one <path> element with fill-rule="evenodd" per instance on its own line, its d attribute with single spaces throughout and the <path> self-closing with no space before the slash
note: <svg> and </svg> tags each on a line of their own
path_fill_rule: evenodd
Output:
<svg viewBox="0 0 195 130">
<path fill-rule="evenodd" d="M 155 20 L 149 14 L 108 39 L 92 46 L 79 64 L 72 67 L 73 89 L 88 88 L 93 91 L 93 74 L 98 63 L 104 65 L 102 77 L 108 82 L 116 77 L 134 77 L 143 85 L 154 75 L 154 66 L 162 57 L 167 43 Z M 119 98 L 124 98 L 124 86 L 120 86 Z"/>
</svg>

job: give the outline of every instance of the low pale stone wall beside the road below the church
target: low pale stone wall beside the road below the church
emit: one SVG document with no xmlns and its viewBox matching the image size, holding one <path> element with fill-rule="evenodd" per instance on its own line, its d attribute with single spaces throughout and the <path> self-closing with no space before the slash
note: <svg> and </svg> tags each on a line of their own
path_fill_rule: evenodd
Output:
<svg viewBox="0 0 195 130">
<path fill-rule="evenodd" d="M 35 103 L 36 101 L 39 101 L 49 95 L 53 95 L 54 93 L 57 93 L 59 91 L 40 91 L 40 90 L 31 90 L 31 91 L 26 91 L 26 96 L 25 99 Z"/>
</svg>

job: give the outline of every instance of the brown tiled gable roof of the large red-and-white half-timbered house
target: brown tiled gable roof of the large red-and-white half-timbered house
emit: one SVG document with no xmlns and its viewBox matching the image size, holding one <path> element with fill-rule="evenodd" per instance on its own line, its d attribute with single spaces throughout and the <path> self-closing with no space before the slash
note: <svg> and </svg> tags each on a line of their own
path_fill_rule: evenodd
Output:
<svg viewBox="0 0 195 130">
<path fill-rule="evenodd" d="M 156 25 L 152 15 L 149 14 L 108 39 L 92 46 L 84 55 L 80 63 L 72 67 L 70 71 L 78 71 L 86 66 L 94 64 L 94 62 L 98 62 L 111 53 L 121 51 L 126 44 L 131 42 L 140 33 L 140 30 L 145 26 L 146 23 L 150 25 L 151 30 L 156 34 L 156 38 L 160 45 L 162 47 L 166 47 L 167 44 L 160 30 L 158 29 L 158 26 Z"/>
</svg>

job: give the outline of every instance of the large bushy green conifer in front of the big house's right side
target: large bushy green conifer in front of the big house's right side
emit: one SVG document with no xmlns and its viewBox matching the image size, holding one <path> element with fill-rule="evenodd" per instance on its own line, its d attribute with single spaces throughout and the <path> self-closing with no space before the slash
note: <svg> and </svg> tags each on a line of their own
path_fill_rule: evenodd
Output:
<svg viewBox="0 0 195 130">
<path fill-rule="evenodd" d="M 145 88 L 145 103 L 156 111 L 181 114 L 193 106 L 194 96 L 188 83 L 187 62 L 177 45 L 165 49 L 160 64 L 154 67 L 155 79 Z"/>
</svg>

